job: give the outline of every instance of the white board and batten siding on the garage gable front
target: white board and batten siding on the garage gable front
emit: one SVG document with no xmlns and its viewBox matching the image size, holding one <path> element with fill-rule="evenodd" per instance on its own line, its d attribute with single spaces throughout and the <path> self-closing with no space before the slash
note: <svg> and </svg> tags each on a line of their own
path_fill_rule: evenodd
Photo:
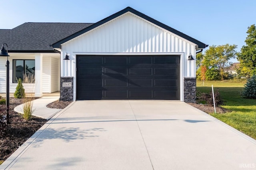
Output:
<svg viewBox="0 0 256 170">
<path fill-rule="evenodd" d="M 62 62 L 61 76 L 74 76 L 76 55 L 181 55 L 181 76 L 195 77 L 196 44 L 127 12 L 62 44 L 70 61 Z"/>
</svg>

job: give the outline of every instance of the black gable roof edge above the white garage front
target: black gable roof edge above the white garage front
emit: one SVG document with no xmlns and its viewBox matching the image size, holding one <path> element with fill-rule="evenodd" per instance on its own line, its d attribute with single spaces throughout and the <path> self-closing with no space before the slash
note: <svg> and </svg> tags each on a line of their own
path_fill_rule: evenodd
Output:
<svg viewBox="0 0 256 170">
<path fill-rule="evenodd" d="M 52 47 L 53 48 L 61 48 L 61 44 L 65 43 L 65 42 L 67 42 L 67 41 L 69 41 L 69 40 L 71 40 L 75 37 L 78 37 L 79 35 L 82 35 L 83 33 L 86 33 L 87 31 L 90 31 L 90 30 L 92 30 L 92 29 L 110 21 L 110 20 L 113 20 L 114 18 L 117 18 L 118 16 L 121 16 L 122 14 L 125 14 L 126 12 L 131 12 L 131 13 L 137 15 L 137 16 L 140 16 L 141 18 L 143 18 L 145 20 L 148 20 L 148 21 L 158 25 L 159 27 L 162 27 L 162 28 L 164 28 L 164 29 L 166 29 L 166 30 L 184 38 L 184 39 L 187 39 L 188 41 L 190 41 L 192 43 L 195 43 L 196 45 L 198 45 L 198 49 L 204 49 L 204 48 L 208 47 L 208 45 L 206 45 L 206 44 L 204 44 L 204 43 L 202 43 L 202 42 L 200 42 L 200 41 L 198 41 L 198 40 L 180 32 L 180 31 L 178 31 L 178 30 L 176 30 L 172 27 L 169 27 L 168 25 L 165 25 L 164 23 L 161 23 L 157 20 L 154 20 L 153 18 L 151 18 L 149 16 L 146 16 L 145 14 L 142 14 L 141 12 L 138 12 L 137 10 L 134 10 L 131 7 L 127 7 L 125 9 L 123 9 L 123 10 L 121 10 L 121 11 L 119 11 L 119 12 L 117 12 L 117 13 L 115 13 L 115 14 L 113 14 L 113 15 L 111 15 L 111 16 L 103 19 L 103 20 L 101 20 L 101 21 L 98 21 L 98 22 L 90 25 L 89 27 L 86 27 L 86 28 L 82 29 L 81 31 L 78 31 L 77 33 L 74 33 L 74 34 L 72 34 L 68 37 L 65 37 L 64 39 L 61 39 L 60 41 L 57 41 L 56 43 L 52 44 Z"/>
</svg>

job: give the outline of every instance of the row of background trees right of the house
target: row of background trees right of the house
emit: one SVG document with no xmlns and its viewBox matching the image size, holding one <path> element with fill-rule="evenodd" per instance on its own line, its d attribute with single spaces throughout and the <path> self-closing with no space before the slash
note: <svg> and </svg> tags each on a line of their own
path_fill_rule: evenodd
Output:
<svg viewBox="0 0 256 170">
<path fill-rule="evenodd" d="M 196 55 L 196 76 L 198 80 L 226 80 L 231 78 L 250 78 L 256 74 L 256 27 L 248 27 L 246 45 L 240 52 L 237 45 L 212 45 L 205 53 Z M 230 59 L 240 62 L 236 69 L 237 74 L 227 72 L 226 68 L 232 65 Z"/>
</svg>

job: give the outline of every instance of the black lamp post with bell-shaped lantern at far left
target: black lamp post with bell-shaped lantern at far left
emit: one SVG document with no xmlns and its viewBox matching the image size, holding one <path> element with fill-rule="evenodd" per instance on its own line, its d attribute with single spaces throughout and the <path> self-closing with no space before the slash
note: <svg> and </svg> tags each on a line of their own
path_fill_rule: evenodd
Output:
<svg viewBox="0 0 256 170">
<path fill-rule="evenodd" d="M 4 45 L 6 45 L 6 49 L 4 48 Z M 0 50 L 0 56 L 7 57 L 6 61 L 6 123 L 10 123 L 10 114 L 9 114 L 9 106 L 10 106 L 10 94 L 9 94 L 9 64 L 10 62 L 8 61 L 8 45 L 6 43 L 3 43 L 2 48 Z"/>
</svg>

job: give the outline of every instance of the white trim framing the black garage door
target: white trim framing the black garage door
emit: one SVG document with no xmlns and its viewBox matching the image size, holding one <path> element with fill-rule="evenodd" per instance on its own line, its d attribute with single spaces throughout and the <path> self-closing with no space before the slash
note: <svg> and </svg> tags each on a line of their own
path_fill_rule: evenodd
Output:
<svg viewBox="0 0 256 170">
<path fill-rule="evenodd" d="M 180 101 L 184 101 L 184 61 L 185 53 L 84 53 L 84 52 L 73 52 L 72 56 L 74 60 L 72 61 L 73 64 L 73 78 L 74 78 L 74 91 L 73 100 L 76 101 L 76 55 L 180 55 Z"/>
</svg>

